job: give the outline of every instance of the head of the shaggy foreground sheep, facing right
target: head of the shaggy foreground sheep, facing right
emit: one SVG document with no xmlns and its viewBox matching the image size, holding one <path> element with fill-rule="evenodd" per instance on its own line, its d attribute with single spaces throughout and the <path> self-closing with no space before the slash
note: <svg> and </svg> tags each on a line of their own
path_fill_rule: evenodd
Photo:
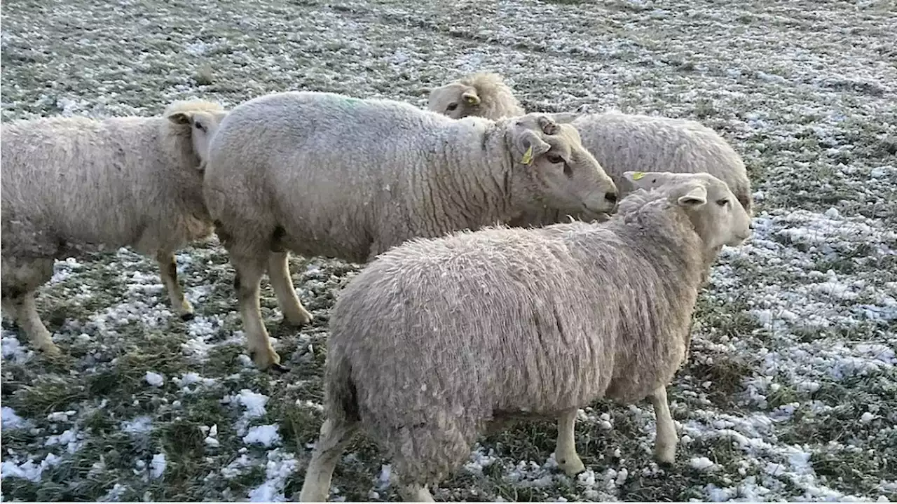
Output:
<svg viewBox="0 0 897 504">
<path fill-rule="evenodd" d="M 671 204 L 682 207 L 694 230 L 710 250 L 736 247 L 751 237 L 753 223 L 731 189 L 709 173 L 624 171 L 636 190 L 657 190 Z"/>
</svg>

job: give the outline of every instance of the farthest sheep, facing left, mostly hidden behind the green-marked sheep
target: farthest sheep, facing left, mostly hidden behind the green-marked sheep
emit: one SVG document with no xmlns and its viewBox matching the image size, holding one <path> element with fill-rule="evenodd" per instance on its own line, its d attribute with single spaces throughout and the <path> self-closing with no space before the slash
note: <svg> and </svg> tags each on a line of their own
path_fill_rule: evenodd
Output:
<svg viewBox="0 0 897 504">
<path fill-rule="evenodd" d="M 523 108 L 501 76 L 471 74 L 430 92 L 427 109 L 448 117 L 516 117 Z M 557 122 L 576 126 L 586 146 L 614 183 L 621 197 L 632 187 L 623 178 L 627 170 L 650 167 L 658 171 L 706 172 L 720 178 L 735 193 L 748 213 L 753 212 L 751 182 L 745 162 L 721 136 L 698 122 L 638 114 L 561 112 L 550 115 Z M 543 213 L 544 214 L 544 213 Z M 585 214 L 579 214 L 582 218 Z M 543 218 L 555 220 L 555 215 Z M 589 215 L 597 219 L 596 215 Z M 534 217 L 527 217 L 536 220 Z"/>
</svg>

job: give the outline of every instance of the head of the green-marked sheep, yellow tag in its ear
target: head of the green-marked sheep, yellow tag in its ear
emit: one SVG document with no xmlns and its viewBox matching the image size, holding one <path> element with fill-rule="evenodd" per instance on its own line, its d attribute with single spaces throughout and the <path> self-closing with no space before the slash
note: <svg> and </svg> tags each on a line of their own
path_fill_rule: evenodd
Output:
<svg viewBox="0 0 897 504">
<path fill-rule="evenodd" d="M 545 207 L 565 213 L 616 212 L 617 188 L 568 124 L 546 114 L 506 119 L 514 169 Z"/>
</svg>

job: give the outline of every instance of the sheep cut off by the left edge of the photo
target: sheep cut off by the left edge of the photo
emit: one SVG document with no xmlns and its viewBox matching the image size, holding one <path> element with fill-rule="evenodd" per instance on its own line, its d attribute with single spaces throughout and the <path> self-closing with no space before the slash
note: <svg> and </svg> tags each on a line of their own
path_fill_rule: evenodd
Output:
<svg viewBox="0 0 897 504">
<path fill-rule="evenodd" d="M 202 164 L 226 112 L 176 101 L 161 117 L 42 117 L 4 123 L 3 307 L 49 355 L 35 291 L 54 260 L 106 247 L 154 254 L 172 308 L 193 317 L 173 252 L 212 234 Z"/>
</svg>

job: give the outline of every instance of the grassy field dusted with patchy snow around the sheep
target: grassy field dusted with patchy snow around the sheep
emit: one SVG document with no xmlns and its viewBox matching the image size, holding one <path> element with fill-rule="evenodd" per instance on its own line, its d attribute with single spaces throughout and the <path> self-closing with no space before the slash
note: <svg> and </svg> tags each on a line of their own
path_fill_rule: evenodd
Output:
<svg viewBox="0 0 897 504">
<path fill-rule="evenodd" d="M 450 5 L 450 6 L 449 6 Z M 231 107 L 270 91 L 422 105 L 481 69 L 527 109 L 622 109 L 714 127 L 749 166 L 755 236 L 701 295 L 669 395 L 682 442 L 650 457 L 649 404 L 577 423 L 588 471 L 553 460 L 553 422 L 481 439 L 437 500 L 897 501 L 897 7 L 892 0 L 8 0 L 2 118 Z M 649 168 L 649 167 L 646 167 Z M 292 258 L 316 316 L 263 312 L 290 372 L 243 354 L 233 271 L 178 256 L 197 317 L 172 317 L 152 261 L 57 264 L 39 308 L 65 356 L 4 319 L 3 500 L 294 500 L 322 421 L 327 314 L 358 271 Z M 333 500 L 396 500 L 357 439 Z"/>
</svg>

